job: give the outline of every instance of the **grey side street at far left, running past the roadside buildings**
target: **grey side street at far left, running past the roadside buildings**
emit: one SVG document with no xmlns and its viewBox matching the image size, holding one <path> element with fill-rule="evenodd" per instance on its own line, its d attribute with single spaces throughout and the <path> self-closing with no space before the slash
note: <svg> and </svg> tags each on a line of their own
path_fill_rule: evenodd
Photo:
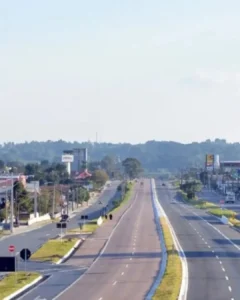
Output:
<svg viewBox="0 0 240 300">
<path fill-rule="evenodd" d="M 97 201 L 92 206 L 89 206 L 84 211 L 76 213 L 76 216 L 70 219 L 68 223 L 68 228 L 75 228 L 78 226 L 80 216 L 82 214 L 88 215 L 89 219 L 94 219 L 100 216 L 100 213 L 104 206 L 111 203 L 115 198 L 119 197 L 119 192 L 116 191 L 116 188 L 119 184 L 119 181 L 112 182 L 112 185 L 100 195 L 99 200 L 102 204 L 99 204 Z M 28 248 L 32 253 L 35 252 L 43 243 L 47 240 L 56 237 L 60 233 L 60 230 L 56 228 L 56 224 L 51 223 L 45 225 L 41 228 L 34 229 L 29 232 L 13 235 L 0 240 L 0 255 L 9 256 L 8 251 L 9 245 L 14 245 L 16 252 L 21 251 L 23 248 Z"/>
</svg>

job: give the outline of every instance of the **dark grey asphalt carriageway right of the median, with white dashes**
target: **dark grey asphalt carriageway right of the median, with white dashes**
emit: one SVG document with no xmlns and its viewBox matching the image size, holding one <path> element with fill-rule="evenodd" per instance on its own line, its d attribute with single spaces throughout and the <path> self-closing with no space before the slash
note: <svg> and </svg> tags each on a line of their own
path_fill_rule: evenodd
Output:
<svg viewBox="0 0 240 300">
<path fill-rule="evenodd" d="M 159 181 L 156 182 L 156 188 L 159 201 L 187 258 L 187 299 L 238 300 L 239 233 L 203 210 L 176 200 L 173 188 L 163 187 Z"/>
</svg>

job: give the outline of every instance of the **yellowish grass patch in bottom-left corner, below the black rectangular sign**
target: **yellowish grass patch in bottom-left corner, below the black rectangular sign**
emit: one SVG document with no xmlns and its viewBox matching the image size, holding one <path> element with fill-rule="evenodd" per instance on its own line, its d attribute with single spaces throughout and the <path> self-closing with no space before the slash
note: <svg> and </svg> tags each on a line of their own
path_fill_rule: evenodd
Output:
<svg viewBox="0 0 240 300">
<path fill-rule="evenodd" d="M 4 299 L 41 276 L 35 272 L 16 272 L 0 280 L 0 299 Z"/>
</svg>

